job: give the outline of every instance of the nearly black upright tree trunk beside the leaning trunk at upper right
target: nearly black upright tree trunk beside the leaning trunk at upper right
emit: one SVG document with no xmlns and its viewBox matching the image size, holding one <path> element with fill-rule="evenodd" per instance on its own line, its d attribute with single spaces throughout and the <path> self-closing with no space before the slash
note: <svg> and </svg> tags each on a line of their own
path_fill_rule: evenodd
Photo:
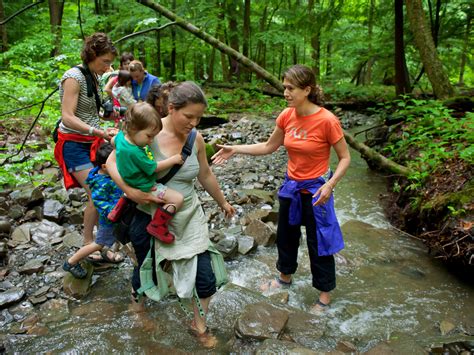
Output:
<svg viewBox="0 0 474 355">
<path fill-rule="evenodd" d="M 395 92 L 397 96 L 411 92 L 403 39 L 403 0 L 395 0 Z"/>
</svg>

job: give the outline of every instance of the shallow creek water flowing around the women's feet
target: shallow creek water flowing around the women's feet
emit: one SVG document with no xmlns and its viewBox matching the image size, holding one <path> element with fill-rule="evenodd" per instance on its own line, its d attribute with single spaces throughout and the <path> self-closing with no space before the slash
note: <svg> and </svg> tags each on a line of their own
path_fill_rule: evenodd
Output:
<svg viewBox="0 0 474 355">
<path fill-rule="evenodd" d="M 472 334 L 474 328 L 474 287 L 429 256 L 420 241 L 391 228 L 380 204 L 385 178 L 369 171 L 357 152 L 352 157 L 351 168 L 335 192 L 346 248 L 337 257 L 337 288 L 324 315 L 325 336 L 312 348 L 329 351 L 347 341 L 364 352 L 386 342 L 395 353 L 419 354 L 443 342 L 469 340 L 463 333 L 471 329 Z M 256 291 L 276 275 L 275 260 L 275 247 L 259 247 L 227 263 L 231 282 L 255 292 L 238 299 L 224 297 L 224 291 L 214 298 L 209 324 L 220 340 L 215 353 L 229 352 L 227 341 L 233 336 L 233 316 L 229 315 L 237 312 L 241 302 L 261 297 Z M 9 336 L 7 351 L 203 351 L 188 332 L 189 320 L 175 299 L 149 302 L 148 312 L 142 315 L 128 310 L 130 271 L 131 266 L 124 263 L 99 274 L 85 299 L 40 311 L 42 327 L 36 329 L 40 335 Z M 310 280 L 303 241 L 299 269 L 288 291 L 290 306 L 308 310 L 314 303 L 317 293 Z M 453 335 L 442 336 L 441 324 L 452 324 Z M 250 350 L 251 346 L 246 351 Z"/>
</svg>

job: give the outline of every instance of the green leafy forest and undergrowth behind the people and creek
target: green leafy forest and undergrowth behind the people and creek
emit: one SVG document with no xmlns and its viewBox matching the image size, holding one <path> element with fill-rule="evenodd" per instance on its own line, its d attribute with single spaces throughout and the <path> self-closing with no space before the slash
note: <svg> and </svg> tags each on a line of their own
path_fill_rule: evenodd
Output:
<svg viewBox="0 0 474 355">
<path fill-rule="evenodd" d="M 35 174 L 54 164 L 60 105 L 49 95 L 80 62 L 84 36 L 106 32 L 162 81 L 233 87 L 206 90 L 216 115 L 280 111 L 262 92 L 300 63 L 328 101 L 364 102 L 388 127 L 373 148 L 407 168 L 391 179 L 397 224 L 474 264 L 473 14 L 463 0 L 0 0 L 0 185 L 51 183 Z"/>
</svg>

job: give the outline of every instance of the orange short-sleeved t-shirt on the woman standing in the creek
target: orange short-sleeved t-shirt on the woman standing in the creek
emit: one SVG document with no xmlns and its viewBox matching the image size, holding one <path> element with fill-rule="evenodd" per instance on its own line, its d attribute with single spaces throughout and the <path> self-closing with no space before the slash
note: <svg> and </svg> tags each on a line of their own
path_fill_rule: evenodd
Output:
<svg viewBox="0 0 474 355">
<path fill-rule="evenodd" d="M 298 116 L 294 107 L 285 109 L 276 124 L 285 132 L 288 176 L 293 180 L 316 179 L 329 168 L 331 146 L 344 137 L 338 118 L 322 108 L 309 116 Z"/>
</svg>

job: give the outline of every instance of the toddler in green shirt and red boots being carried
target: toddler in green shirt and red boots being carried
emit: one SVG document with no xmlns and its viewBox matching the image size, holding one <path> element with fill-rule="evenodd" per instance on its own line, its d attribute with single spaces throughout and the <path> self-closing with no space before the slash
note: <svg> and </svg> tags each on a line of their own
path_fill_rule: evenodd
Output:
<svg viewBox="0 0 474 355">
<path fill-rule="evenodd" d="M 125 114 L 124 130 L 112 140 L 117 156 L 117 169 L 122 179 L 131 187 L 153 194 L 164 200 L 164 205 L 151 206 L 152 220 L 147 231 L 165 244 L 174 242 L 175 236 L 168 230 L 168 223 L 183 204 L 183 196 L 163 184 L 156 183 L 157 172 L 183 164 L 181 154 L 160 161 L 154 160 L 149 145 L 161 131 L 158 112 L 146 102 L 132 105 Z M 123 203 L 122 197 L 119 204 Z"/>
</svg>

